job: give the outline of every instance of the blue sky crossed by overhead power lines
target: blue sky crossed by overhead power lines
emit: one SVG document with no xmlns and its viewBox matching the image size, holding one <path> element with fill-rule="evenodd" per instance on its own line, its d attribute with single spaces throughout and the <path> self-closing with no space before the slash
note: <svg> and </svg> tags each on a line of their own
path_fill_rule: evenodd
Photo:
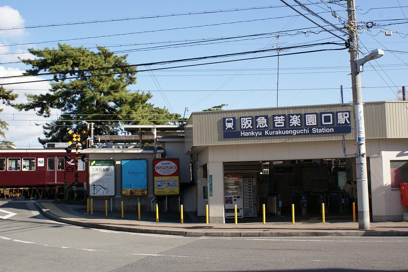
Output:
<svg viewBox="0 0 408 272">
<path fill-rule="evenodd" d="M 33 58 L 28 48 L 56 48 L 59 42 L 127 54 L 127 62 L 139 71 L 137 84 L 128 89 L 150 91 L 149 103 L 185 117 L 221 104 L 227 105 L 224 110 L 340 104 L 341 86 L 344 103 L 351 102 L 350 56 L 344 50 L 348 36 L 341 31 L 346 1 L 300 0 L 313 14 L 293 0 L 285 2 L 313 22 L 278 0 L 73 0 L 69 5 L 3 0 L 0 85 L 19 95 L 17 103 L 27 101 L 26 93 L 46 93 L 47 82 L 19 83 L 46 76 L 8 77 L 31 68 L 18 59 Z M 385 51 L 364 66 L 363 101 L 397 100 L 398 90 L 407 85 L 408 3 L 355 2 L 360 58 L 375 48 Z M 174 62 L 186 59 L 194 60 Z M 0 140 L 22 149 L 41 147 L 41 124 L 61 114 L 54 109 L 44 119 L 34 111 L 3 104 L 0 109 L 9 128 Z"/>
</svg>

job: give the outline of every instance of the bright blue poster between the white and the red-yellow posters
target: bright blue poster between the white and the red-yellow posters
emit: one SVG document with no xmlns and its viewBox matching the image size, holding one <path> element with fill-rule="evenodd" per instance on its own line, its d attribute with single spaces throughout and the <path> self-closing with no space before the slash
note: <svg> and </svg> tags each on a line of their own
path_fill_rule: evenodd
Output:
<svg viewBox="0 0 408 272">
<path fill-rule="evenodd" d="M 122 160 L 122 195 L 147 195 L 147 161 Z"/>
</svg>

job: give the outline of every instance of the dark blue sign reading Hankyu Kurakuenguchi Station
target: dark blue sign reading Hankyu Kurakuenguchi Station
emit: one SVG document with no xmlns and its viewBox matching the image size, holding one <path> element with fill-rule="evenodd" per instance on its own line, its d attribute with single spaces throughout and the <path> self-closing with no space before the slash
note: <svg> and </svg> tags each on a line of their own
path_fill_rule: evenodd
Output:
<svg viewBox="0 0 408 272">
<path fill-rule="evenodd" d="M 223 138 L 351 133 L 351 112 L 311 112 L 224 117 Z"/>
</svg>

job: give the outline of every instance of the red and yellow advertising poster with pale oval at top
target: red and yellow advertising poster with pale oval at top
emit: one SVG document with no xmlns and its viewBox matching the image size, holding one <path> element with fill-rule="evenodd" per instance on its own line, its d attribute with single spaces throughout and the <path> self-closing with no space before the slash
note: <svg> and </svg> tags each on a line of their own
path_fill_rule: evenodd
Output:
<svg viewBox="0 0 408 272">
<path fill-rule="evenodd" d="M 180 188 L 179 159 L 153 160 L 155 195 L 178 195 Z"/>
</svg>

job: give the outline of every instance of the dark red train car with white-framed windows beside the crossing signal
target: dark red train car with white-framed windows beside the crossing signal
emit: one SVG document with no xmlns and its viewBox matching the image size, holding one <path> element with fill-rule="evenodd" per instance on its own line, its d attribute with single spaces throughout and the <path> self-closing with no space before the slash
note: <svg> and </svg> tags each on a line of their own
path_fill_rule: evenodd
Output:
<svg viewBox="0 0 408 272">
<path fill-rule="evenodd" d="M 75 151 L 66 161 L 64 149 L 0 149 L 0 193 L 29 197 L 51 197 L 58 187 L 86 180 L 86 164 L 78 158 L 78 178 L 75 177 Z M 19 191 L 21 190 L 21 191 Z M 30 191 L 31 190 L 31 191 Z M 34 195 L 33 195 L 34 194 Z"/>
</svg>

